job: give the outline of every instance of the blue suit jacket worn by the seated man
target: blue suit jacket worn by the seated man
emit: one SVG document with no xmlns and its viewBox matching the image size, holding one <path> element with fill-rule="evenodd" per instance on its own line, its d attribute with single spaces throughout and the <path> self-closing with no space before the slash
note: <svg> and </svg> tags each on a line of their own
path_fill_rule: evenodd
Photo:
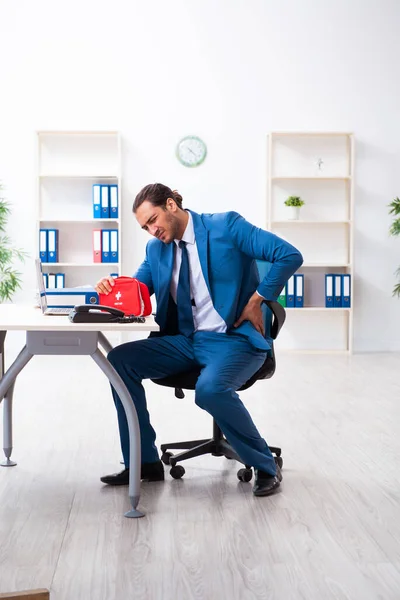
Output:
<svg viewBox="0 0 400 600">
<path fill-rule="evenodd" d="M 264 338 L 249 321 L 237 328 L 233 324 L 255 290 L 266 300 L 277 300 L 286 281 L 303 262 L 300 252 L 236 212 L 190 213 L 204 279 L 214 308 L 227 325 L 227 333 L 245 335 L 256 348 L 268 350 L 270 339 Z M 156 295 L 156 321 L 161 333 L 167 328 L 174 246 L 174 242 L 150 240 L 146 258 L 134 275 L 147 285 L 150 294 Z M 261 282 L 256 259 L 272 263 Z"/>
</svg>

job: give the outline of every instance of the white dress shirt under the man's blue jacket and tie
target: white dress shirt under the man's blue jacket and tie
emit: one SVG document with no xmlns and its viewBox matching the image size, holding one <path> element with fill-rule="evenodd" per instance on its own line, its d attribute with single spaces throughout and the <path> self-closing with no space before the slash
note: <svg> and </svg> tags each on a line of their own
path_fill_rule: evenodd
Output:
<svg viewBox="0 0 400 600">
<path fill-rule="evenodd" d="M 216 331 L 218 333 L 225 333 L 226 323 L 213 306 L 203 271 L 201 270 L 199 253 L 197 251 L 196 238 L 194 235 L 193 219 L 190 212 L 188 212 L 188 216 L 189 220 L 182 236 L 182 241 L 186 242 L 189 258 L 190 293 L 195 304 L 195 306 L 192 306 L 194 329 L 195 331 Z M 182 250 L 179 248 L 180 241 L 181 240 L 174 240 L 176 243 L 175 260 L 170 287 L 171 296 L 175 302 L 179 270 L 182 262 Z"/>
</svg>

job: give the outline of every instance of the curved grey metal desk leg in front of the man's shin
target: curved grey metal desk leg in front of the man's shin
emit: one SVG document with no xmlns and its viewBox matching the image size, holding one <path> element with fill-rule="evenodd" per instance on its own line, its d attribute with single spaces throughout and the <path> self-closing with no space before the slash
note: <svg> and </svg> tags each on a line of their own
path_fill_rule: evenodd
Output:
<svg viewBox="0 0 400 600">
<path fill-rule="evenodd" d="M 129 500 L 132 505 L 132 510 L 125 513 L 125 517 L 138 518 L 144 517 L 144 514 L 136 507 L 140 498 L 140 429 L 139 421 L 136 414 L 135 406 L 132 402 L 130 394 L 125 387 L 121 377 L 115 371 L 114 367 L 108 362 L 101 350 L 97 349 L 91 355 L 95 363 L 108 377 L 110 383 L 115 388 L 122 405 L 125 409 L 126 419 L 129 428 L 129 443 L 130 443 L 130 469 L 129 469 Z"/>
</svg>

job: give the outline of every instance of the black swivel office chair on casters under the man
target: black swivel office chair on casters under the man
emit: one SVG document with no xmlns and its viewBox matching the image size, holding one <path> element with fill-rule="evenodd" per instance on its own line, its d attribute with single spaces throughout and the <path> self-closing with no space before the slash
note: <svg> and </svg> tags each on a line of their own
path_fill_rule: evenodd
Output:
<svg viewBox="0 0 400 600">
<path fill-rule="evenodd" d="M 267 308 L 268 307 L 268 308 Z M 283 306 L 278 302 L 270 302 L 268 300 L 263 303 L 264 323 L 266 334 L 275 340 L 278 333 L 285 322 L 286 312 Z M 254 375 L 238 390 L 247 390 L 253 385 L 258 379 L 269 379 L 275 372 L 276 361 L 274 348 L 268 352 L 267 358 L 260 369 L 254 373 Z M 201 369 L 196 368 L 191 371 L 184 373 L 178 373 L 176 375 L 169 375 L 161 379 L 153 379 L 154 383 L 158 385 L 164 385 L 166 387 L 175 388 L 175 396 L 177 398 L 184 398 L 185 394 L 183 390 L 194 390 L 196 387 L 197 379 L 200 375 Z M 173 454 L 168 452 L 169 449 L 173 450 L 185 450 L 179 454 Z M 281 448 L 275 448 L 270 446 L 271 452 L 275 455 L 275 462 L 280 468 L 283 466 L 283 459 L 281 457 Z M 225 456 L 229 459 L 237 460 L 238 462 L 245 465 L 244 469 L 239 469 L 237 476 L 240 481 L 250 481 L 253 477 L 253 471 L 250 465 L 243 463 L 241 458 L 236 454 L 229 442 L 224 437 L 221 429 L 218 427 L 215 419 L 213 419 L 213 437 L 206 440 L 191 440 L 188 442 L 171 442 L 170 444 L 161 444 L 162 456 L 161 460 L 164 464 L 170 465 L 170 475 L 174 479 L 180 479 L 185 474 L 185 469 L 181 465 L 176 463 L 187 460 L 188 458 L 194 458 L 195 456 L 201 456 L 203 454 L 212 454 L 213 456 Z"/>
</svg>

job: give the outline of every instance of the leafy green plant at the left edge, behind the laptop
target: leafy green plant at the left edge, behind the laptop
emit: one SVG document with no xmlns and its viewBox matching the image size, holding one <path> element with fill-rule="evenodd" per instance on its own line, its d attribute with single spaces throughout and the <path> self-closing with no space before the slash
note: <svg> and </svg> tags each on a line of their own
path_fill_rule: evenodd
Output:
<svg viewBox="0 0 400 600">
<path fill-rule="evenodd" d="M 5 233 L 10 205 L 3 197 L 3 190 L 0 183 L 0 302 L 11 300 L 21 287 L 21 273 L 13 268 L 13 264 L 15 259 L 24 262 L 27 257 L 26 252 L 11 246 L 11 240 Z"/>
</svg>

